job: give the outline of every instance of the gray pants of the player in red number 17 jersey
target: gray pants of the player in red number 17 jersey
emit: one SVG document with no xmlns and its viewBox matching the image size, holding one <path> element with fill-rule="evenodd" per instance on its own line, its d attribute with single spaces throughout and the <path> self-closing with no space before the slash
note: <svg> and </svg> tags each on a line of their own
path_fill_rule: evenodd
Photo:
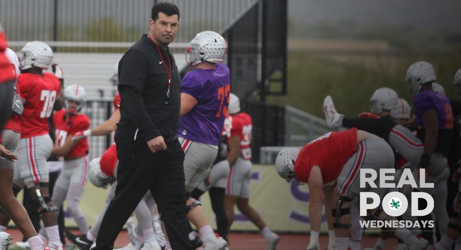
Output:
<svg viewBox="0 0 461 250">
<path fill-rule="evenodd" d="M 70 184 L 85 186 L 88 177 L 88 159 L 81 157 L 71 161 L 64 161 L 62 172 L 59 174 L 56 186 L 67 189 Z"/>
</svg>

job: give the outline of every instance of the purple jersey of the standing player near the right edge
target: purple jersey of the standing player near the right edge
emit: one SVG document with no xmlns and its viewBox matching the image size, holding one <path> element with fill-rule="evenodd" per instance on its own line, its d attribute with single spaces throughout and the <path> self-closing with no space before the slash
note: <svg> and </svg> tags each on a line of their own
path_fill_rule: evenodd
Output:
<svg viewBox="0 0 461 250">
<path fill-rule="evenodd" d="M 424 127 L 421 115 L 435 109 L 438 115 L 439 130 L 453 129 L 453 112 L 448 98 L 439 92 L 421 91 L 415 97 L 415 116 L 416 123 Z"/>
</svg>

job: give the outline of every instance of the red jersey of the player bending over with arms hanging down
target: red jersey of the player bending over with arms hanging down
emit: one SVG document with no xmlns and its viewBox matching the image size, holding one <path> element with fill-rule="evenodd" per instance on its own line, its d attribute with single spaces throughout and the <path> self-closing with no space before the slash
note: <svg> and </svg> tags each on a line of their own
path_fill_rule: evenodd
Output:
<svg viewBox="0 0 461 250">
<path fill-rule="evenodd" d="M 295 176 L 308 182 L 314 165 L 322 171 L 323 184 L 336 182 L 347 159 L 357 151 L 357 128 L 329 132 L 302 147 L 295 162 Z"/>
</svg>

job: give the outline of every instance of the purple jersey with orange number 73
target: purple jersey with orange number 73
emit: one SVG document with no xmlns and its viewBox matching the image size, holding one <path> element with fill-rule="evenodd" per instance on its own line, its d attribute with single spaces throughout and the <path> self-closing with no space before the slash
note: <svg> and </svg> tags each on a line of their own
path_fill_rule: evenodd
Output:
<svg viewBox="0 0 461 250">
<path fill-rule="evenodd" d="M 231 75 L 225 64 L 214 69 L 194 69 L 181 82 L 181 93 L 192 95 L 197 104 L 181 116 L 177 135 L 218 145 L 231 93 Z"/>
</svg>

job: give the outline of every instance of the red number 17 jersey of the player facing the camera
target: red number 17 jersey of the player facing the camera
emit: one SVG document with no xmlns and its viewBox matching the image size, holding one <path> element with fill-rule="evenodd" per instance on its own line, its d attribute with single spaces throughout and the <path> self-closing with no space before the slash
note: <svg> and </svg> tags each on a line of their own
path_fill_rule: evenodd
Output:
<svg viewBox="0 0 461 250">
<path fill-rule="evenodd" d="M 90 119 L 84 114 L 74 114 L 66 118 L 66 110 L 62 109 L 56 111 L 53 114 L 53 124 L 55 126 L 56 140 L 55 145 L 63 146 L 68 135 L 74 135 L 75 133 L 83 130 L 87 130 L 90 127 Z M 65 157 L 78 157 L 86 156 L 88 154 L 88 139 L 82 139 L 73 146 L 71 151 L 65 155 Z"/>
</svg>

